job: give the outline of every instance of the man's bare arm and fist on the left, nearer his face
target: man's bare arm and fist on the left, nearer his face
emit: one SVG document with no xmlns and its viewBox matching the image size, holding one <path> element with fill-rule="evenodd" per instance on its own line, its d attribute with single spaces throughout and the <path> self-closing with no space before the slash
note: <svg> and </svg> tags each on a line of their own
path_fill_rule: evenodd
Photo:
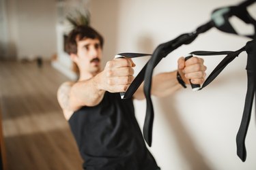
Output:
<svg viewBox="0 0 256 170">
<path fill-rule="evenodd" d="M 72 84 L 66 99 L 59 99 L 63 110 L 74 112 L 85 105 L 98 105 L 106 91 L 124 92 L 133 80 L 132 67 L 134 63 L 130 59 L 115 58 L 106 63 L 106 67 L 98 75 Z"/>
</svg>

